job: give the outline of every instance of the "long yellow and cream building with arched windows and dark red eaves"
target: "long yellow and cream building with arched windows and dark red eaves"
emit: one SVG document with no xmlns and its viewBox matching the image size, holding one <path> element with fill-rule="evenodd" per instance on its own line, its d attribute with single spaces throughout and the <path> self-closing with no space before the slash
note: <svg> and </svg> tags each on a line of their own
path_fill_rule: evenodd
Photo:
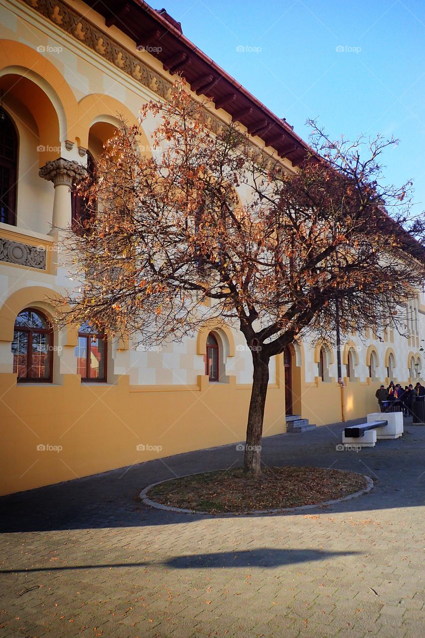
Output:
<svg viewBox="0 0 425 638">
<path fill-rule="evenodd" d="M 181 344 L 132 350 L 84 327 L 50 329 L 48 298 L 69 285 L 57 228 L 80 214 L 70 188 L 96 162 L 119 116 L 136 122 L 144 103 L 167 99 L 177 71 L 195 99 L 213 98 L 211 126 L 238 119 L 290 170 L 306 147 L 167 13 L 130 1 L 116 15 L 110 4 L 3 3 L 0 494 L 245 437 L 251 355 L 237 330 L 205 325 Z M 153 126 L 144 122 L 147 154 Z M 409 339 L 393 330 L 383 341 L 364 336 L 366 345 L 355 334 L 345 338 L 347 419 L 376 410 L 380 382 L 420 376 L 424 314 L 421 294 L 407 309 Z M 298 343 L 276 357 L 265 436 L 286 431 L 285 413 L 318 426 L 341 420 L 336 377 L 327 344 Z"/>
</svg>

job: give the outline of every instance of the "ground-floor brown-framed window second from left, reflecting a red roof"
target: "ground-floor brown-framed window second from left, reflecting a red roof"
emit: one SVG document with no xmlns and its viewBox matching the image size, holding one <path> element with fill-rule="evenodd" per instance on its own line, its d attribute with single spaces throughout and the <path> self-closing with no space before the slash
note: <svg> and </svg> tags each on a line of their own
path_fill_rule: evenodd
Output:
<svg viewBox="0 0 425 638">
<path fill-rule="evenodd" d="M 82 381 L 105 382 L 107 380 L 107 337 L 88 323 L 78 330 L 77 374 Z"/>
</svg>

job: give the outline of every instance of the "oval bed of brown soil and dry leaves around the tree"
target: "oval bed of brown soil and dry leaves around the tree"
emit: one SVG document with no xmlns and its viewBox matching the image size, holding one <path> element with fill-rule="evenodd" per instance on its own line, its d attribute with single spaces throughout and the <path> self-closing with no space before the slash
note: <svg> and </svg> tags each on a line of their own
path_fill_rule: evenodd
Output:
<svg viewBox="0 0 425 638">
<path fill-rule="evenodd" d="M 361 491 L 364 477 L 325 468 L 265 468 L 260 477 L 242 468 L 193 474 L 153 486 L 147 498 L 168 507 L 209 514 L 317 505 Z"/>
</svg>

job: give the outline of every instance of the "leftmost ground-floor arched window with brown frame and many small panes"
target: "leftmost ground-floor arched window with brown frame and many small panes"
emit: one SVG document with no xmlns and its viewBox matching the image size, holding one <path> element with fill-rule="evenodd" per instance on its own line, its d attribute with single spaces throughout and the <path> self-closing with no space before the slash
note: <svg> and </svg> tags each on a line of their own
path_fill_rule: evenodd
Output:
<svg viewBox="0 0 425 638">
<path fill-rule="evenodd" d="M 19 382 L 51 382 L 53 330 L 38 310 L 26 308 L 15 321 L 11 350 Z"/>
</svg>

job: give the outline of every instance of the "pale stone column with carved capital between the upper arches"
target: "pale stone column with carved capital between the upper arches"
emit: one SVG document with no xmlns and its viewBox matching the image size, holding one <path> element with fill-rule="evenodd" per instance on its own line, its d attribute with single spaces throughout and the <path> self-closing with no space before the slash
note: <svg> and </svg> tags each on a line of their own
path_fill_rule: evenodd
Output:
<svg viewBox="0 0 425 638">
<path fill-rule="evenodd" d="M 77 161 L 59 158 L 48 161 L 40 168 L 40 177 L 53 182 L 55 197 L 53 202 L 52 231 L 68 228 L 71 224 L 70 188 L 87 175 L 87 169 Z"/>
</svg>

